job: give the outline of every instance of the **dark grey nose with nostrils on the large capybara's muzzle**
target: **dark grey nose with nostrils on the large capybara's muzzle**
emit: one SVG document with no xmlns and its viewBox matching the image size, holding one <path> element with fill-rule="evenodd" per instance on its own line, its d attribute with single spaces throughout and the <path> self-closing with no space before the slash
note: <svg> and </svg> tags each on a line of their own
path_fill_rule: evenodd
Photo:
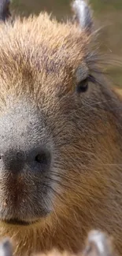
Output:
<svg viewBox="0 0 122 256">
<path fill-rule="evenodd" d="M 50 152 L 45 149 L 34 149 L 30 152 L 21 150 L 8 150 L 0 155 L 0 168 L 11 173 L 20 173 L 26 169 L 31 172 L 48 169 L 50 165 Z"/>
</svg>

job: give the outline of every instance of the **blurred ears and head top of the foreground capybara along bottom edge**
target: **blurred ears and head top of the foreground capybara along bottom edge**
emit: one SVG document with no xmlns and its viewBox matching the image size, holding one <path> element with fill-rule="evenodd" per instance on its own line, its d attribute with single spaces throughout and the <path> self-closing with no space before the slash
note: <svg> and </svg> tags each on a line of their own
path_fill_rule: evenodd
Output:
<svg viewBox="0 0 122 256">
<path fill-rule="evenodd" d="M 2 239 L 0 243 L 1 256 L 13 256 L 13 243 L 9 238 Z M 47 253 L 38 254 L 38 256 L 75 256 L 70 252 L 60 252 L 58 250 L 51 250 Z M 98 230 L 92 230 L 88 233 L 85 245 L 82 251 L 79 251 L 77 256 L 112 256 L 114 255 L 112 237 L 107 236 Z M 36 255 L 37 256 L 37 255 Z"/>
</svg>

